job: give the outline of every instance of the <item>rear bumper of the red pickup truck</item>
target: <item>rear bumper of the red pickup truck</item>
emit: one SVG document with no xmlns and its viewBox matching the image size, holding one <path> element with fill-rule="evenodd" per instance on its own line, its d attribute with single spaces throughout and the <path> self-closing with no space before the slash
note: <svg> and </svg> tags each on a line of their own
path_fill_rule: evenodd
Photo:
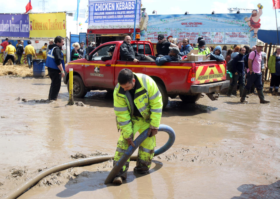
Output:
<svg viewBox="0 0 280 199">
<path fill-rule="evenodd" d="M 191 85 L 190 86 L 190 92 L 191 93 L 211 93 L 211 92 L 217 92 L 224 88 L 229 87 L 230 81 L 219 81 L 214 83 L 208 83 L 208 84 L 198 84 L 198 85 Z"/>
</svg>

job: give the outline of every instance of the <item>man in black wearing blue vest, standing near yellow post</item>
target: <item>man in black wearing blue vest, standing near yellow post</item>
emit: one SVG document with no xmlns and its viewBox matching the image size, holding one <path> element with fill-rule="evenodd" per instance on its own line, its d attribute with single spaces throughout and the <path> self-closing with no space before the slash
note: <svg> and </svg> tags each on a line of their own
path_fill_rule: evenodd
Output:
<svg viewBox="0 0 280 199">
<path fill-rule="evenodd" d="M 61 48 L 64 45 L 64 38 L 57 36 L 55 43 L 49 45 L 49 51 L 46 60 L 46 67 L 52 83 L 50 84 L 50 92 L 48 100 L 57 100 L 57 96 L 61 86 L 61 78 L 65 76 L 65 64 Z"/>
</svg>

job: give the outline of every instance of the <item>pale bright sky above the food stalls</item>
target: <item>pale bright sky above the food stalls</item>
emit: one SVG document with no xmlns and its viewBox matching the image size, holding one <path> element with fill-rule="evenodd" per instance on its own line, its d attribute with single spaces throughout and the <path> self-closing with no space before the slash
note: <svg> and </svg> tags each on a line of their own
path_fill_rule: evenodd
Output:
<svg viewBox="0 0 280 199">
<path fill-rule="evenodd" d="M 31 0 L 33 12 L 42 12 L 41 0 Z M 0 13 L 24 13 L 25 6 L 28 0 L 9 0 L 2 1 L 0 7 Z M 58 4 L 59 2 L 59 4 Z M 199 2 L 199 3 L 198 3 Z M 257 9 L 258 3 L 263 5 L 263 14 L 260 17 L 261 27 L 260 29 L 276 30 L 275 11 L 273 10 L 272 0 L 218 0 L 218 1 L 186 1 L 186 0 L 142 0 L 141 1 L 148 15 L 153 15 L 152 12 L 157 11 L 158 15 L 169 14 L 184 14 L 186 11 L 189 14 L 211 14 L 215 13 L 229 13 L 227 8 L 245 8 L 245 9 Z M 88 0 L 80 0 L 80 9 L 86 8 Z M 68 10 L 75 10 L 77 8 L 77 0 L 48 0 L 45 3 L 45 8 L 48 12 L 61 12 Z M 241 13 L 244 13 L 241 11 Z M 279 9 L 276 10 L 278 18 L 278 27 L 280 27 L 280 13 Z"/>
</svg>

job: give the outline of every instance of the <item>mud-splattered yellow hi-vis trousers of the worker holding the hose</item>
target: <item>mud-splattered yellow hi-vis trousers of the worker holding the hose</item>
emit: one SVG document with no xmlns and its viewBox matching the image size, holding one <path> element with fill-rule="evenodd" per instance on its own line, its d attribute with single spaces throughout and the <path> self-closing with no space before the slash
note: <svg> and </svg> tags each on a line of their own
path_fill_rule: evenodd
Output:
<svg viewBox="0 0 280 199">
<path fill-rule="evenodd" d="M 133 126 L 133 137 L 135 133 L 138 131 L 141 134 L 144 130 L 150 127 L 150 123 L 147 123 L 144 118 L 132 116 L 132 126 Z M 138 149 L 138 157 L 136 160 L 136 167 L 134 167 L 135 173 L 146 173 L 151 167 L 152 159 L 155 152 L 155 136 L 147 137 L 139 146 Z M 120 138 L 118 139 L 117 149 L 115 152 L 113 165 L 117 163 L 122 154 L 127 150 L 128 142 L 123 138 L 122 132 L 120 132 Z M 117 176 L 122 177 L 122 179 L 126 179 L 127 170 L 129 167 L 129 160 L 125 163 L 125 165 L 120 170 Z"/>
</svg>

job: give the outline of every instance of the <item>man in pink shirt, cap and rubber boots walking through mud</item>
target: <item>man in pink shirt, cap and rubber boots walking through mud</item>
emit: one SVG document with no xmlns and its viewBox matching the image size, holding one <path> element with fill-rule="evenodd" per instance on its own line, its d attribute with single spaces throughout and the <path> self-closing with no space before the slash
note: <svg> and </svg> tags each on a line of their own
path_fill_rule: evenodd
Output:
<svg viewBox="0 0 280 199">
<path fill-rule="evenodd" d="M 260 103 L 265 104 L 270 101 L 265 100 L 262 92 L 262 72 L 261 72 L 261 61 L 262 61 L 262 49 L 263 43 L 261 41 L 257 42 L 256 50 L 252 51 L 248 57 L 248 69 L 247 69 L 247 83 L 242 92 L 241 102 L 248 102 L 246 100 L 246 95 L 248 90 L 250 90 L 252 84 L 255 84 L 258 96 L 260 98 Z"/>
</svg>

